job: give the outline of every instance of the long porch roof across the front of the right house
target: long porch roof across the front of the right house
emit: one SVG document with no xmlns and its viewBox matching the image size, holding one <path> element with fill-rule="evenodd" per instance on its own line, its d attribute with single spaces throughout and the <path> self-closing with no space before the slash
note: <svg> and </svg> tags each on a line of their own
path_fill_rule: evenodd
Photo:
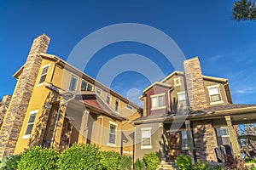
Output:
<svg viewBox="0 0 256 170">
<path fill-rule="evenodd" d="M 239 124 L 256 122 L 256 105 L 227 104 L 209 106 L 201 111 L 178 111 L 172 114 L 143 116 L 134 121 L 135 124 L 147 122 L 173 122 L 184 120 L 206 120 L 232 116 L 233 122 Z"/>
</svg>

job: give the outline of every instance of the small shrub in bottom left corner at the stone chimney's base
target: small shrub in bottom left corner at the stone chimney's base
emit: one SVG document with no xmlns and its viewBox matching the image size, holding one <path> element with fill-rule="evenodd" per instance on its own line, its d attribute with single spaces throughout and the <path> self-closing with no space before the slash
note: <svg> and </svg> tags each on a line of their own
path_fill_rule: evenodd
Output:
<svg viewBox="0 0 256 170">
<path fill-rule="evenodd" d="M 20 155 L 5 156 L 2 158 L 0 164 L 0 170 L 15 170 L 17 169 L 18 162 L 20 161 Z"/>
</svg>

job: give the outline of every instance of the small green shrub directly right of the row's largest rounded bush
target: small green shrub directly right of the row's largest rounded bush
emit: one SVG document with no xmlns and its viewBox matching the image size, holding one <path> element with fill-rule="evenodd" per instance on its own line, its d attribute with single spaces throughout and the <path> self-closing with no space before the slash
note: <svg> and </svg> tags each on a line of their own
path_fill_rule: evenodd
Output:
<svg viewBox="0 0 256 170">
<path fill-rule="evenodd" d="M 119 167 L 119 153 L 115 151 L 102 151 L 101 165 L 102 170 L 114 170 Z"/>
</svg>

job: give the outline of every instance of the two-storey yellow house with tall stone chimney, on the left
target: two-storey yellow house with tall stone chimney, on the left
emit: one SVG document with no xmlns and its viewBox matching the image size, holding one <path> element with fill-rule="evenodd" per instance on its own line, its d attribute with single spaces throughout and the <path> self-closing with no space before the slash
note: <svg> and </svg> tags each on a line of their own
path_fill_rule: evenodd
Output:
<svg viewBox="0 0 256 170">
<path fill-rule="evenodd" d="M 74 143 L 133 155 L 142 109 L 53 54 L 37 37 L 14 77 L 14 94 L 0 129 L 0 158 L 35 145 L 64 150 Z"/>
</svg>

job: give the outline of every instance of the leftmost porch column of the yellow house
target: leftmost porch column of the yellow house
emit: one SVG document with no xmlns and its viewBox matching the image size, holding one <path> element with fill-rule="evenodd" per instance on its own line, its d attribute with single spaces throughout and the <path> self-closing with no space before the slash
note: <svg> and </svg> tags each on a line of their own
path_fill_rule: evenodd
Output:
<svg viewBox="0 0 256 170">
<path fill-rule="evenodd" d="M 60 144 L 61 144 L 61 132 L 63 128 L 63 123 L 64 119 L 66 116 L 66 109 L 67 109 L 67 104 L 66 105 L 61 105 L 58 111 L 58 115 L 56 117 L 56 123 L 55 123 L 55 132 L 53 134 L 53 141 L 52 141 L 52 146 L 55 147 L 55 149 L 59 150 L 60 149 Z"/>
</svg>

